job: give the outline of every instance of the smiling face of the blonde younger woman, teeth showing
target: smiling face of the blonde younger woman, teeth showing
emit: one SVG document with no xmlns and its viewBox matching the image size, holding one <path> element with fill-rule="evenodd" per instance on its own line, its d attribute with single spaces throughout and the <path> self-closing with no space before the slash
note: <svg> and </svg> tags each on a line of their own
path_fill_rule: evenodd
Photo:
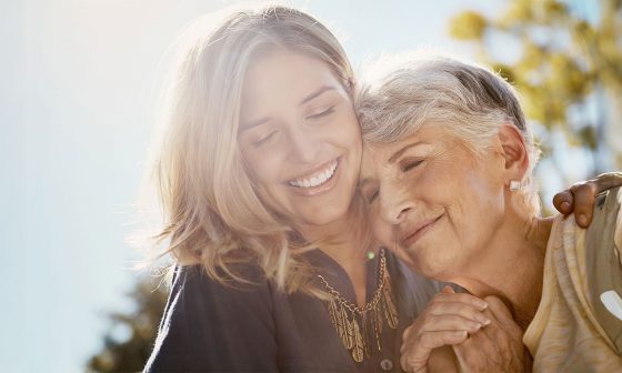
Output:
<svg viewBox="0 0 622 373">
<path fill-rule="evenodd" d="M 362 140 L 349 92 L 329 67 L 278 50 L 247 73 L 238 142 L 262 201 L 297 225 L 345 215 Z"/>
</svg>

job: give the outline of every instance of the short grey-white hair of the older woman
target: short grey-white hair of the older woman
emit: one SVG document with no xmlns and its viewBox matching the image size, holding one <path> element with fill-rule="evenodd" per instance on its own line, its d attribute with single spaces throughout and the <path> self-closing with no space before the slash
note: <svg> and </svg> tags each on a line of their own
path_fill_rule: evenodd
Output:
<svg viewBox="0 0 622 373">
<path fill-rule="evenodd" d="M 540 212 L 533 180 L 540 151 L 518 94 L 503 78 L 483 67 L 423 51 L 380 59 L 368 69 L 371 78 L 361 80 L 357 98 L 365 141 L 399 141 L 434 123 L 483 157 L 499 128 L 511 123 L 522 134 L 529 158 L 518 194 L 531 213 Z"/>
</svg>

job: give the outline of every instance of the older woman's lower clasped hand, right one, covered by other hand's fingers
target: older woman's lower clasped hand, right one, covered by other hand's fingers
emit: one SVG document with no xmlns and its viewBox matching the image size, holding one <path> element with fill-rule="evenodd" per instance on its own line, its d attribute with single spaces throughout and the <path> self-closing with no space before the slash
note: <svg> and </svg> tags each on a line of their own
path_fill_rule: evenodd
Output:
<svg viewBox="0 0 622 373">
<path fill-rule="evenodd" d="M 460 372 L 531 372 L 531 355 L 523 331 L 501 300 L 486 296 L 483 311 L 492 322 L 462 343 L 453 345 Z"/>
</svg>

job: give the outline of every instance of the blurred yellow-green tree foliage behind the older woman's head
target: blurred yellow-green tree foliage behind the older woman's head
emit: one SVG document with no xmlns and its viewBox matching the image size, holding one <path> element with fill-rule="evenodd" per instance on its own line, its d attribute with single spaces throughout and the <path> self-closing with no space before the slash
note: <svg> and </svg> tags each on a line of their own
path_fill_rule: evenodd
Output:
<svg viewBox="0 0 622 373">
<path fill-rule="evenodd" d="M 478 58 L 518 88 L 541 138 L 560 131 L 571 147 L 588 149 L 592 174 L 622 164 L 609 138 L 622 100 L 622 1 L 513 0 L 493 19 L 459 13 L 450 34 L 472 42 Z M 543 157 L 555 152 L 553 141 L 541 140 L 552 147 Z"/>
</svg>

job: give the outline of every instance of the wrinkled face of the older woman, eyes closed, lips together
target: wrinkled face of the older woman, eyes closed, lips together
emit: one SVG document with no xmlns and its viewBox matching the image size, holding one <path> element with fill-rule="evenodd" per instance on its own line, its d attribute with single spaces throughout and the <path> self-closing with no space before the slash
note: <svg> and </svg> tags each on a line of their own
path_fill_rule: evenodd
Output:
<svg viewBox="0 0 622 373">
<path fill-rule="evenodd" d="M 374 232 L 423 274 L 449 281 L 484 255 L 503 221 L 503 159 L 476 158 L 442 128 L 365 147 L 361 190 Z"/>
</svg>

